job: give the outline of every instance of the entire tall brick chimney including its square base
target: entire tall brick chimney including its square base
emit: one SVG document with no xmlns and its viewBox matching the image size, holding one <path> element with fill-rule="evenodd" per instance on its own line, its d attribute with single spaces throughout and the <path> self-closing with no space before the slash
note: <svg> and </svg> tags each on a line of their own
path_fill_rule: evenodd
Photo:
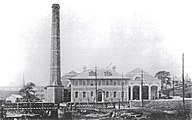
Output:
<svg viewBox="0 0 192 120">
<path fill-rule="evenodd" d="M 59 4 L 52 5 L 50 82 L 45 87 L 45 102 L 49 103 L 61 103 L 64 100 L 60 68 L 59 8 Z"/>
</svg>

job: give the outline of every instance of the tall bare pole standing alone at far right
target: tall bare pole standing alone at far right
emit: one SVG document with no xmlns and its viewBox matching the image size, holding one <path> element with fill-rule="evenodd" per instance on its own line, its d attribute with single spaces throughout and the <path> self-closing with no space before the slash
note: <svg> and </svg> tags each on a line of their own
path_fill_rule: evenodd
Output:
<svg viewBox="0 0 192 120">
<path fill-rule="evenodd" d="M 185 115 L 184 53 L 182 54 L 182 81 L 183 81 L 183 112 L 184 112 L 184 115 Z"/>
</svg>

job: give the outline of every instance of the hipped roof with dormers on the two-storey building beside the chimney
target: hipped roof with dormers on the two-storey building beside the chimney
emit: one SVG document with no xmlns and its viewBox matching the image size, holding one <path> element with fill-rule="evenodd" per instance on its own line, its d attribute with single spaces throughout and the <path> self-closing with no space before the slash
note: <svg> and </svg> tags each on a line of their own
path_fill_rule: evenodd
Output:
<svg viewBox="0 0 192 120">
<path fill-rule="evenodd" d="M 122 74 L 116 72 L 114 69 L 97 69 L 96 75 L 95 70 L 87 69 L 86 71 L 81 72 L 79 75 L 72 77 L 71 79 L 122 79 Z M 128 77 L 123 77 L 128 79 Z"/>
</svg>

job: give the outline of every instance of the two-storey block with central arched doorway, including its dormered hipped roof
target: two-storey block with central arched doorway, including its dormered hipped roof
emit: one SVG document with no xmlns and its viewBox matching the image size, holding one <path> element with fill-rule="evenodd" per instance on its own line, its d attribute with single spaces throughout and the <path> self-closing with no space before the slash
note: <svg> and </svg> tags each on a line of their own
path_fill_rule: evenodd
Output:
<svg viewBox="0 0 192 120">
<path fill-rule="evenodd" d="M 128 98 L 129 78 L 115 69 L 89 69 L 70 80 L 72 102 L 117 102 Z"/>
</svg>

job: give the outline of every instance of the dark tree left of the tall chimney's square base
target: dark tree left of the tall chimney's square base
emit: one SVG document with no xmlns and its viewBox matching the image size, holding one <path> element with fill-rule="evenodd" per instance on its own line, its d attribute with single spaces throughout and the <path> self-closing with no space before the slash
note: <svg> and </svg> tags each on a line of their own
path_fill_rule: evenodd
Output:
<svg viewBox="0 0 192 120">
<path fill-rule="evenodd" d="M 23 88 L 19 90 L 19 94 L 21 94 L 27 102 L 33 101 L 33 94 L 35 93 L 34 87 L 36 85 L 32 82 L 27 83 Z"/>
</svg>

